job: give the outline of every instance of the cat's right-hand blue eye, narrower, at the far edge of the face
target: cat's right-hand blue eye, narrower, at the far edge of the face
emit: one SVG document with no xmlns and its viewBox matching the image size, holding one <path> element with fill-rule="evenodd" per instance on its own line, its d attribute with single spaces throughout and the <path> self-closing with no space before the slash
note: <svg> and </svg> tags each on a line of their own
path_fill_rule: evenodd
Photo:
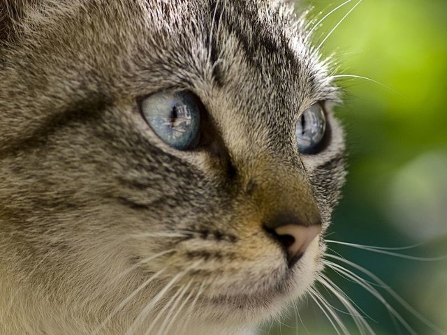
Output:
<svg viewBox="0 0 447 335">
<path fill-rule="evenodd" d="M 296 124 L 298 151 L 302 154 L 316 154 L 326 132 L 326 118 L 323 107 L 316 103 L 302 113 Z"/>
</svg>

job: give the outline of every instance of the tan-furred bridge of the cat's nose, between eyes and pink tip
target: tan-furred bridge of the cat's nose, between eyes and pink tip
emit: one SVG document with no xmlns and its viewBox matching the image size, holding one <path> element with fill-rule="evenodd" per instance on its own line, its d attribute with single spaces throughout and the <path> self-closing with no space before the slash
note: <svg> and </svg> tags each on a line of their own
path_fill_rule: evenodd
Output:
<svg viewBox="0 0 447 335">
<path fill-rule="evenodd" d="M 305 170 L 299 163 L 293 163 L 299 158 L 290 156 L 287 144 L 282 148 L 277 144 L 267 145 L 272 135 L 267 126 L 261 124 L 256 131 L 240 128 L 250 120 L 241 121 L 238 115 L 221 114 L 219 122 L 226 125 L 221 127 L 221 135 L 228 160 L 242 182 L 244 200 L 254 205 L 257 216 L 271 229 L 290 223 L 321 224 Z"/>
</svg>

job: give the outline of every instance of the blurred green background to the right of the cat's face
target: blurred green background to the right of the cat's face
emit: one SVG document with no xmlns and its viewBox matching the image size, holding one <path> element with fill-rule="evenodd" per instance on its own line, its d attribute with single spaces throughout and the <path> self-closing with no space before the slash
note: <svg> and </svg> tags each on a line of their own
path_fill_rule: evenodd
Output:
<svg viewBox="0 0 447 335">
<path fill-rule="evenodd" d="M 307 0 L 302 7 L 310 4 L 312 13 L 323 17 L 342 2 Z M 316 43 L 356 2 L 325 20 L 314 36 Z M 339 80 L 346 90 L 337 115 L 347 133 L 349 177 L 328 238 L 382 247 L 420 244 L 396 252 L 423 258 L 447 255 L 447 1 L 363 0 L 325 41 L 323 52 L 335 52 L 341 73 L 389 87 Z M 405 260 L 348 246 L 330 248 L 330 253 L 372 271 L 430 322 L 447 329 L 446 259 Z M 334 271 L 326 273 L 367 313 L 377 335 L 412 334 L 360 285 Z M 414 334 L 447 334 L 420 322 L 383 288 L 375 288 Z M 321 285 L 318 291 L 343 309 L 333 293 Z M 266 325 L 265 334 L 337 334 L 312 299 L 299 305 L 302 322 L 293 309 L 288 318 Z M 360 334 L 349 315 L 337 314 L 351 334 Z"/>
</svg>

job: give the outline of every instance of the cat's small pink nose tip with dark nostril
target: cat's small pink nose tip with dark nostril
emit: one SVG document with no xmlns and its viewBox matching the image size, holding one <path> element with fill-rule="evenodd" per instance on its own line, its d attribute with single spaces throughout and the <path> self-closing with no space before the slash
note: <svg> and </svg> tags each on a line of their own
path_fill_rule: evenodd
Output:
<svg viewBox="0 0 447 335">
<path fill-rule="evenodd" d="M 274 232 L 282 239 L 288 255 L 288 265 L 292 267 L 320 234 L 321 225 L 281 225 L 274 228 Z"/>
</svg>

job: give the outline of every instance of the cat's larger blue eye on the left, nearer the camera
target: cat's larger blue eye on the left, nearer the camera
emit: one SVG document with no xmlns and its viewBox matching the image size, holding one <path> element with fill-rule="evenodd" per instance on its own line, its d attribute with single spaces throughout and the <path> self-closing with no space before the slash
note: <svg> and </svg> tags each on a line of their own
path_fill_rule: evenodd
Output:
<svg viewBox="0 0 447 335">
<path fill-rule="evenodd" d="M 161 140 L 178 150 L 193 149 L 200 137 L 200 102 L 187 91 L 163 91 L 140 104 L 147 123 Z"/>
</svg>

